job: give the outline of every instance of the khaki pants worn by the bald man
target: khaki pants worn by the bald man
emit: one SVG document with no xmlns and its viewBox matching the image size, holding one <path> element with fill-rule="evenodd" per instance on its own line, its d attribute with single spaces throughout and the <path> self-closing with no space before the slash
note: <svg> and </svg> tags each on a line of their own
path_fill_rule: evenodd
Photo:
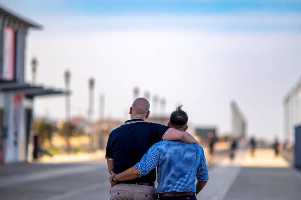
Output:
<svg viewBox="0 0 301 200">
<path fill-rule="evenodd" d="M 156 187 L 119 183 L 112 187 L 110 200 L 155 200 Z"/>
</svg>

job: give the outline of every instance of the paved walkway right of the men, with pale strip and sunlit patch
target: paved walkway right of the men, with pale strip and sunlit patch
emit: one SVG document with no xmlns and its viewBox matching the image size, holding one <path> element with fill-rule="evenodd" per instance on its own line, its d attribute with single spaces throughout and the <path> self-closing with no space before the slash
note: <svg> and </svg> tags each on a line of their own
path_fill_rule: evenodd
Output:
<svg viewBox="0 0 301 200">
<path fill-rule="evenodd" d="M 255 157 L 240 150 L 235 159 L 224 158 L 209 171 L 209 182 L 198 199 L 254 200 L 298 199 L 301 197 L 301 173 L 271 149 L 259 149 Z"/>
</svg>

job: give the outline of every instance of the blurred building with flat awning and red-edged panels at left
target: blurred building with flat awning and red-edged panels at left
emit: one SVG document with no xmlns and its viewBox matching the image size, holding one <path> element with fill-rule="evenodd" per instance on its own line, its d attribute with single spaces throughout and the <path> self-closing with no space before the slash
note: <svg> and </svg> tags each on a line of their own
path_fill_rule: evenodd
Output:
<svg viewBox="0 0 301 200">
<path fill-rule="evenodd" d="M 0 164 L 26 162 L 32 156 L 34 97 L 69 93 L 25 82 L 29 28 L 42 26 L 0 6 Z"/>
</svg>

